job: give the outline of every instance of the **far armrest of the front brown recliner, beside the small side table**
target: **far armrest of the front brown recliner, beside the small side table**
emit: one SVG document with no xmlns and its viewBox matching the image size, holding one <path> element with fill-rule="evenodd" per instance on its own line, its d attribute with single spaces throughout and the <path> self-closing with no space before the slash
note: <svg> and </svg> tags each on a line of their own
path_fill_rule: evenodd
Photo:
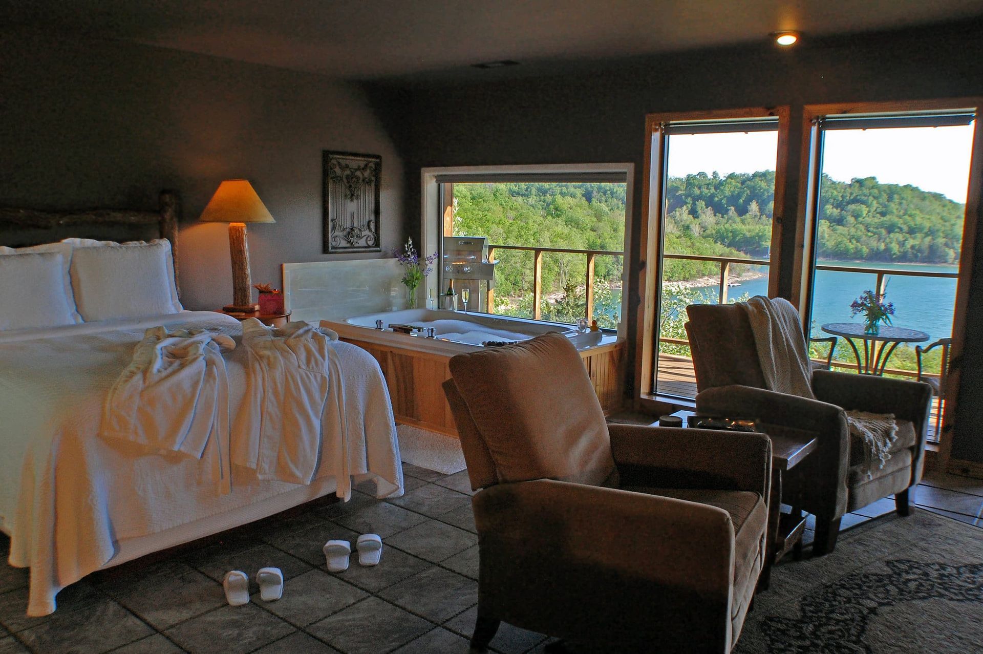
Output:
<svg viewBox="0 0 983 654">
<path fill-rule="evenodd" d="M 764 434 L 608 425 L 622 486 L 753 491 L 768 501 L 772 442 Z"/>
</svg>

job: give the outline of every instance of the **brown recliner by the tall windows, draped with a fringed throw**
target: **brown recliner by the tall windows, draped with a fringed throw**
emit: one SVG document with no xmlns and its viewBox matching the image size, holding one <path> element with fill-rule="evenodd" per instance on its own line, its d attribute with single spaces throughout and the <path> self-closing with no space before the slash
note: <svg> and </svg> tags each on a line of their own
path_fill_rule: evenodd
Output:
<svg viewBox="0 0 983 654">
<path fill-rule="evenodd" d="M 686 313 L 699 413 L 756 418 L 768 434 L 818 435 L 816 451 L 786 477 L 782 489 L 783 504 L 816 516 L 814 555 L 833 551 L 843 513 L 895 494 L 897 512 L 908 514 L 925 462 L 930 386 L 814 369 L 817 399 L 768 390 L 747 312 L 732 304 L 697 304 Z M 883 468 L 874 466 L 870 479 L 863 465 L 863 443 L 850 437 L 847 410 L 896 417 L 891 458 Z"/>
</svg>

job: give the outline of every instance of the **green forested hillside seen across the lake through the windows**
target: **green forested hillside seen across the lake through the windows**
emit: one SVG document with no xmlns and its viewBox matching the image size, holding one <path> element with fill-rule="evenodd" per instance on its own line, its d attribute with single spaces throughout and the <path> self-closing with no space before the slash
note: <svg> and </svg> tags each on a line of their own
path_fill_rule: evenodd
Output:
<svg viewBox="0 0 983 654">
<path fill-rule="evenodd" d="M 875 178 L 838 182 L 824 176 L 819 258 L 908 264 L 958 260 L 963 206 L 913 186 Z M 775 172 L 700 173 L 670 178 L 665 252 L 767 258 L 771 246 Z M 477 183 L 454 185 L 454 233 L 485 235 L 496 245 L 620 251 L 625 185 Z M 532 252 L 498 250 L 496 310 L 532 313 Z M 603 323 L 617 322 L 620 257 L 598 257 L 595 275 Z M 583 311 L 586 258 L 544 255 L 545 317 Z M 714 263 L 666 261 L 665 279 L 685 281 L 719 271 Z M 740 273 L 741 267 L 732 268 Z"/>
</svg>

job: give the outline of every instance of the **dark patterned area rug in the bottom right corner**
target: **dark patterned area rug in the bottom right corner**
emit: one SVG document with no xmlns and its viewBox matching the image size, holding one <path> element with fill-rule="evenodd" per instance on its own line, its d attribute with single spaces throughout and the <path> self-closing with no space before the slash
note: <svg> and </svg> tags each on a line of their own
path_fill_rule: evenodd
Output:
<svg viewBox="0 0 983 654">
<path fill-rule="evenodd" d="M 983 529 L 918 509 L 840 534 L 826 557 L 782 561 L 735 650 L 981 651 Z"/>
</svg>

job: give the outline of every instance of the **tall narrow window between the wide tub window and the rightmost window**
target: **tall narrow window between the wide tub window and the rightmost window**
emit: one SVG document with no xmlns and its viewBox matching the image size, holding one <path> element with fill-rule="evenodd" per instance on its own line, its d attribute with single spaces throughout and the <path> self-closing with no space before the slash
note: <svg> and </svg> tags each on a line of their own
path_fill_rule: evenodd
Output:
<svg viewBox="0 0 983 654">
<path fill-rule="evenodd" d="M 642 395 L 687 400 L 696 375 L 686 306 L 772 294 L 787 111 L 650 116 L 649 125 Z"/>
</svg>

